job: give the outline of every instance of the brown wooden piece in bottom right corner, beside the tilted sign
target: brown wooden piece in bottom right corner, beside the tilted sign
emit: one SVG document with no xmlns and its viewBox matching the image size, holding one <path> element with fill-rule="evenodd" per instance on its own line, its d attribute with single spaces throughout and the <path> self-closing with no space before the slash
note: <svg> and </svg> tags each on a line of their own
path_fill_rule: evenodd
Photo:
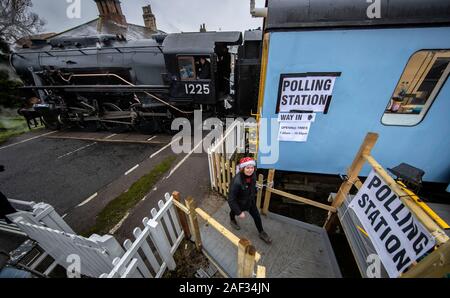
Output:
<svg viewBox="0 0 450 298">
<path fill-rule="evenodd" d="M 426 256 L 401 277 L 442 278 L 450 272 L 450 241 Z"/>
</svg>

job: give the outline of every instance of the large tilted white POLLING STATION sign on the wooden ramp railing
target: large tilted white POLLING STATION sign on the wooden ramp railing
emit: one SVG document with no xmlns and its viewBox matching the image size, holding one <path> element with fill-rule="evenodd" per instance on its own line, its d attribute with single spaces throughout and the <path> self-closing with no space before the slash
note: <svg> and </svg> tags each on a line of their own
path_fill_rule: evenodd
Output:
<svg viewBox="0 0 450 298">
<path fill-rule="evenodd" d="M 389 277 L 398 277 L 435 245 L 433 236 L 375 171 L 349 208 L 368 233 Z"/>
</svg>

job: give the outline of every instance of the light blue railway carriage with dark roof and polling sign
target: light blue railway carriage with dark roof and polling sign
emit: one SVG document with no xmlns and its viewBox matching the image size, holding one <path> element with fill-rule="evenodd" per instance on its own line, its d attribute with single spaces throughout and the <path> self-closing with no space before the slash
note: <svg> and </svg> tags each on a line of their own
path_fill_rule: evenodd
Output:
<svg viewBox="0 0 450 298">
<path fill-rule="evenodd" d="M 404 162 L 423 181 L 450 182 L 450 1 L 272 0 L 267 8 L 258 116 L 279 121 L 259 132 L 260 168 L 343 174 L 376 132 L 372 153 L 384 167 Z M 289 122 L 311 112 L 314 121 Z M 269 158 L 276 145 L 278 159 Z"/>
</svg>

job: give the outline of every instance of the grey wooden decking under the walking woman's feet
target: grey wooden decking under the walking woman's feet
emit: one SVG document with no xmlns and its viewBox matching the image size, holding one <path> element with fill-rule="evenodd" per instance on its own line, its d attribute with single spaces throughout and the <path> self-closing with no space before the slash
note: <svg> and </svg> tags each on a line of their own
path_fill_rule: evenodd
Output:
<svg viewBox="0 0 450 298">
<path fill-rule="evenodd" d="M 261 254 L 259 265 L 266 267 L 266 276 L 341 277 L 325 230 L 284 216 L 269 213 L 262 216 L 264 229 L 272 237 L 268 245 L 258 237 L 253 219 L 239 220 L 241 230 L 229 223 L 229 207 L 225 202 L 212 216 L 240 238 L 247 238 Z M 214 228 L 201 222 L 203 249 L 229 277 L 237 274 L 237 247 Z"/>
</svg>

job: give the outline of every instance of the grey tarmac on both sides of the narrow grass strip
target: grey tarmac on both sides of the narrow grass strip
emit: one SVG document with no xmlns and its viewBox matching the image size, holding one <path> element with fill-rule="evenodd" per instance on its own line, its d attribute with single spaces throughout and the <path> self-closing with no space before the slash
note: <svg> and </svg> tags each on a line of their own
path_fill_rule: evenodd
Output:
<svg viewBox="0 0 450 298">
<path fill-rule="evenodd" d="M 0 145 L 0 164 L 5 165 L 0 190 L 11 199 L 51 204 L 78 233 L 95 223 L 96 215 L 109 201 L 174 154 L 167 136 L 157 136 L 155 144 L 141 144 L 78 140 L 71 138 L 73 133 L 59 138 L 60 133 L 48 133 L 32 132 Z M 111 141 L 120 136 L 95 137 Z M 201 142 L 192 145 L 200 146 Z M 131 238 L 132 230 L 142 225 L 142 219 L 150 216 L 164 194 L 173 191 L 179 191 L 183 199 L 192 196 L 201 203 L 210 191 L 206 153 L 177 155 L 171 171 L 129 211 L 114 234 L 120 240 Z"/>
</svg>

